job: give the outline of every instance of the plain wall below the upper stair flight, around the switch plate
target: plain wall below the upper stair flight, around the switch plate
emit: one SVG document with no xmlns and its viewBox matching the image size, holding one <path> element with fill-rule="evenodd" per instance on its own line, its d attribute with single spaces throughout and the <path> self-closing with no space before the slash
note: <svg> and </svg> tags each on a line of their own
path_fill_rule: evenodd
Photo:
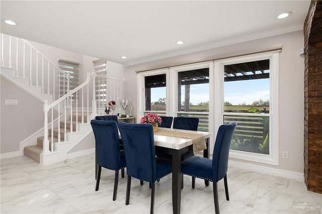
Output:
<svg viewBox="0 0 322 214">
<path fill-rule="evenodd" d="M 20 151 L 20 143 L 44 127 L 43 102 L 3 76 L 0 90 L 0 153 Z M 18 105 L 5 105 L 6 99 L 16 99 Z"/>
</svg>

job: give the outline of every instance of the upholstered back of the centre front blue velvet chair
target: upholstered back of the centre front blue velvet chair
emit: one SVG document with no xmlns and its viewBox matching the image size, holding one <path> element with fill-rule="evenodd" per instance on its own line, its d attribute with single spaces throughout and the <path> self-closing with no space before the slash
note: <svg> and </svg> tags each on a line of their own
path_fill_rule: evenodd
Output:
<svg viewBox="0 0 322 214">
<path fill-rule="evenodd" d="M 151 124 L 118 124 L 122 137 L 126 172 L 140 180 L 155 182 L 156 161 Z"/>
</svg>

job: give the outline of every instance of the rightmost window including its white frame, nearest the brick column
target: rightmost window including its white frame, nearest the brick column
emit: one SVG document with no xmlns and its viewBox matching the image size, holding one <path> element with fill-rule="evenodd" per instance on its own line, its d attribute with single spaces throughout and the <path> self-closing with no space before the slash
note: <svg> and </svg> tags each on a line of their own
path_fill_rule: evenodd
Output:
<svg viewBox="0 0 322 214">
<path fill-rule="evenodd" d="M 278 164 L 277 63 L 278 53 L 215 62 L 223 80 L 222 123 L 238 124 L 230 157 Z"/>
</svg>

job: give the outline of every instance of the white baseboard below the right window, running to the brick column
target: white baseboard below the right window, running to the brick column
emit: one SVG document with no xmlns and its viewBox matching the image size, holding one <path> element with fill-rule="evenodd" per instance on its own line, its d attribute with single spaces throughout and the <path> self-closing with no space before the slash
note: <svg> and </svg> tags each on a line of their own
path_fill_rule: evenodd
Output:
<svg viewBox="0 0 322 214">
<path fill-rule="evenodd" d="M 259 166 L 255 164 L 238 162 L 233 160 L 228 161 L 228 166 L 236 167 L 240 169 L 246 169 L 254 172 L 260 172 L 264 174 L 270 174 L 270 175 L 279 176 L 279 177 L 285 177 L 285 178 L 294 179 L 298 181 L 304 181 L 304 173 L 300 173 L 300 172 L 293 172 L 293 171 L 288 171 L 284 169 L 276 169 L 276 168 L 271 168 L 267 166 Z"/>
</svg>

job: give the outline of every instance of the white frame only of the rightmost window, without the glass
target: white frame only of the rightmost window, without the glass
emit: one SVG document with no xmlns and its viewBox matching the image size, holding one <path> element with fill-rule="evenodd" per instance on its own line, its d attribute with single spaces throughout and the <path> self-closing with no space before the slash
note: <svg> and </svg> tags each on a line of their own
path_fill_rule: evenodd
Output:
<svg viewBox="0 0 322 214">
<path fill-rule="evenodd" d="M 278 127 L 278 92 L 279 92 L 279 78 L 278 78 L 278 66 L 279 66 L 279 51 L 266 52 L 261 54 L 252 54 L 247 56 L 232 57 L 222 60 L 214 61 L 214 95 L 215 103 L 220 103 L 213 105 L 213 110 L 215 112 L 214 117 L 214 128 L 218 130 L 219 126 L 223 124 L 224 116 L 224 65 L 259 61 L 259 60 L 270 60 L 270 154 L 259 154 L 246 151 L 238 151 L 230 149 L 229 157 L 236 158 L 240 160 L 247 160 L 271 165 L 279 165 L 279 127 Z M 209 103 L 210 104 L 210 103 Z M 225 113 L 225 115 L 227 115 Z M 267 114 L 265 114 L 267 115 Z M 257 115 L 258 116 L 258 115 Z"/>
</svg>

